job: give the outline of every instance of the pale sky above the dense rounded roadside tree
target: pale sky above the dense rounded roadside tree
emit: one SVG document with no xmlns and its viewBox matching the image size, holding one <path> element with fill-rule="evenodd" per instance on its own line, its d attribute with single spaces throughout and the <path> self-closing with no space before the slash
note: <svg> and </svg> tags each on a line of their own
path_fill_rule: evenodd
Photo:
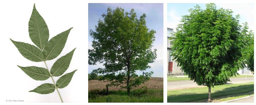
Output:
<svg viewBox="0 0 256 105">
<path fill-rule="evenodd" d="M 188 10 L 199 5 L 205 9 L 205 3 L 168 3 L 167 21 L 168 28 L 175 29 L 180 23 L 182 15 L 189 14 Z M 253 3 L 216 3 L 217 8 L 232 9 L 233 16 L 240 15 L 240 23 L 248 22 L 249 29 L 254 29 L 254 5 Z"/>
</svg>

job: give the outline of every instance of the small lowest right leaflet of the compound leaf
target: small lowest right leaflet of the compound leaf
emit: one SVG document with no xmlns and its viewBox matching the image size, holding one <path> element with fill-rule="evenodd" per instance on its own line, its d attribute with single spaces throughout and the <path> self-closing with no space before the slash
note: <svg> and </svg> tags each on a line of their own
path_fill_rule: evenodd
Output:
<svg viewBox="0 0 256 105">
<path fill-rule="evenodd" d="M 65 88 L 70 83 L 70 81 L 76 71 L 77 70 L 74 70 L 70 73 L 66 73 L 65 75 L 61 76 L 56 82 L 57 88 L 60 88 L 60 89 Z"/>
</svg>

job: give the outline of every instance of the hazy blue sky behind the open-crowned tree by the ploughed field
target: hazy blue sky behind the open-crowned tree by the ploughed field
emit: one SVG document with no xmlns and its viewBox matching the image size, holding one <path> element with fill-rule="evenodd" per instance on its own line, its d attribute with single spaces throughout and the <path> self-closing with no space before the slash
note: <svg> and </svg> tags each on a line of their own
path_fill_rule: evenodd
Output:
<svg viewBox="0 0 256 105">
<path fill-rule="evenodd" d="M 146 72 L 153 71 L 152 77 L 163 77 L 163 4 L 162 3 L 89 3 L 88 4 L 88 30 L 95 30 L 98 20 L 102 18 L 102 14 L 106 13 L 108 7 L 112 10 L 116 7 L 121 7 L 125 12 L 130 12 L 132 8 L 137 13 L 137 16 L 146 14 L 146 25 L 150 30 L 155 30 L 156 40 L 152 49 L 157 49 L 157 59 L 154 63 L 149 64 L 150 69 Z M 88 33 L 88 48 L 92 49 L 92 37 Z M 104 68 L 102 64 L 88 65 L 88 73 L 97 68 Z M 142 72 L 137 72 L 142 75 Z"/>
</svg>

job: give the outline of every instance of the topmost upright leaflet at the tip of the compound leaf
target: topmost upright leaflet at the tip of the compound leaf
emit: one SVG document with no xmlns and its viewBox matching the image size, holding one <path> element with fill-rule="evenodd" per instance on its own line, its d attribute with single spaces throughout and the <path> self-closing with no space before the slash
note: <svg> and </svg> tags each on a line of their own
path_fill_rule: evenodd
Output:
<svg viewBox="0 0 256 105">
<path fill-rule="evenodd" d="M 28 22 L 28 33 L 32 42 L 43 50 L 49 39 L 49 30 L 43 17 L 36 10 L 35 4 Z"/>
</svg>

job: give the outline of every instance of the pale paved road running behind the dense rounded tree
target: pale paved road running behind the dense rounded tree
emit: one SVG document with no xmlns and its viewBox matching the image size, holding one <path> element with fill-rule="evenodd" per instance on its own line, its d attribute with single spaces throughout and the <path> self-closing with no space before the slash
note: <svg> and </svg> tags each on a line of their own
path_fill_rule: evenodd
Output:
<svg viewBox="0 0 256 105">
<path fill-rule="evenodd" d="M 245 82 L 252 82 L 254 81 L 254 77 L 250 78 L 230 78 L 232 82 L 228 83 L 245 83 Z M 168 90 L 178 90 L 178 89 L 190 89 L 190 88 L 197 88 L 197 87 L 206 87 L 206 86 L 199 86 L 194 81 L 175 81 L 175 82 L 167 82 L 167 89 Z"/>
</svg>

